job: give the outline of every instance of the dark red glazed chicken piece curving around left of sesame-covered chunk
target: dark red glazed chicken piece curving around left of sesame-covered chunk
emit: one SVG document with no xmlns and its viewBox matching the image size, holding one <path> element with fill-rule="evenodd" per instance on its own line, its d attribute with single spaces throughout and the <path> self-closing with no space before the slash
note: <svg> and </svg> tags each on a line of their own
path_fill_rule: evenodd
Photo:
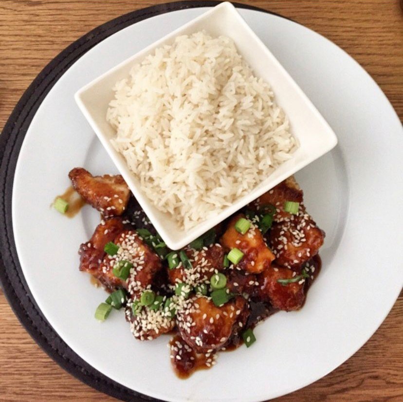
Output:
<svg viewBox="0 0 403 402">
<path fill-rule="evenodd" d="M 90 273 L 109 291 L 122 287 L 123 281 L 114 275 L 110 277 L 103 272 L 101 263 L 106 255 L 104 247 L 108 242 L 115 239 L 123 230 L 123 227 L 122 218 L 105 219 L 95 228 L 91 239 L 83 243 L 78 250 L 78 254 L 80 254 L 80 271 Z"/>
</svg>

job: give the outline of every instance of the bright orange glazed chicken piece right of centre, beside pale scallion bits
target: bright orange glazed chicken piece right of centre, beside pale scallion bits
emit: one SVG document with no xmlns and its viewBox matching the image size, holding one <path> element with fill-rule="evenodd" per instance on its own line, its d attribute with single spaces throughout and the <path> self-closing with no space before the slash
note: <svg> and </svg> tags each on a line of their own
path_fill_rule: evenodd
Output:
<svg viewBox="0 0 403 402">
<path fill-rule="evenodd" d="M 228 249 L 240 249 L 244 256 L 237 267 L 248 273 L 259 273 L 275 259 L 272 251 L 267 247 L 260 230 L 252 224 L 251 228 L 241 234 L 235 229 L 235 224 L 239 218 L 244 218 L 243 214 L 234 216 L 225 233 L 222 235 L 221 244 Z"/>
</svg>

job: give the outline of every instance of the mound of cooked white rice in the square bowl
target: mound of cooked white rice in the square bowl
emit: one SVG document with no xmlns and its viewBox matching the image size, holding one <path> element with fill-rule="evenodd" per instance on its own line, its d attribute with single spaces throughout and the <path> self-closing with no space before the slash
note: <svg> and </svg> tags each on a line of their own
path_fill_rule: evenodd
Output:
<svg viewBox="0 0 403 402">
<path fill-rule="evenodd" d="M 297 148 L 270 85 L 230 38 L 177 37 L 113 90 L 113 146 L 184 230 L 250 192 Z"/>
</svg>

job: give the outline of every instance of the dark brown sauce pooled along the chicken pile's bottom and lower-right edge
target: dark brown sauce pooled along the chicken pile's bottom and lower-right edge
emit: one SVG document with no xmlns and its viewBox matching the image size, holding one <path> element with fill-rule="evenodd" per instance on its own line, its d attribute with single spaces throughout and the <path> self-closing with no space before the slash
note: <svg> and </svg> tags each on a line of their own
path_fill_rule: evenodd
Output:
<svg viewBox="0 0 403 402">
<path fill-rule="evenodd" d="M 322 261 L 319 255 L 315 255 L 311 258 L 311 260 L 307 263 L 310 267 L 314 266 L 315 270 L 311 273 L 312 278 L 307 279 L 305 282 L 305 300 L 308 290 L 310 289 L 313 281 L 318 276 L 320 269 L 322 268 Z M 304 302 L 305 302 L 304 300 Z M 256 302 L 254 300 L 249 301 L 250 315 L 248 317 L 248 321 L 245 325 L 245 329 L 255 328 L 257 324 L 261 321 L 266 320 L 271 315 L 275 314 L 278 309 L 270 306 L 267 303 Z M 302 308 L 302 307 L 301 307 Z M 176 333 L 176 332 L 175 332 Z M 173 334 L 174 335 L 174 334 Z M 179 346 L 182 345 L 182 346 Z M 228 343 L 224 345 L 220 351 L 230 352 L 237 349 L 239 346 L 243 345 L 243 339 L 240 333 L 234 334 L 231 339 L 228 340 Z M 180 379 L 186 379 L 190 377 L 197 370 L 205 370 L 211 368 L 213 364 L 211 364 L 211 359 L 214 354 L 200 354 L 196 353 L 192 348 L 190 348 L 185 341 L 181 338 L 180 335 L 176 334 L 169 342 L 169 347 L 171 351 L 171 363 L 174 368 L 175 374 Z M 176 349 L 174 349 L 176 347 Z M 177 359 L 177 355 L 179 355 L 180 360 Z M 210 360 L 209 360 L 210 359 Z"/>
</svg>

